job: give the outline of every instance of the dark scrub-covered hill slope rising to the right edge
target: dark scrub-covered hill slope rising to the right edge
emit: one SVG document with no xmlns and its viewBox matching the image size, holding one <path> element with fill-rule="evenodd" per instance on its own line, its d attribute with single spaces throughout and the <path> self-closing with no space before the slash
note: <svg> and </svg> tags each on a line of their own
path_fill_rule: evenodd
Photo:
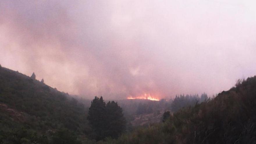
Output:
<svg viewBox="0 0 256 144">
<path fill-rule="evenodd" d="M 255 144 L 256 76 L 239 81 L 211 101 L 174 113 L 165 123 L 123 135 L 115 143 Z"/>
</svg>

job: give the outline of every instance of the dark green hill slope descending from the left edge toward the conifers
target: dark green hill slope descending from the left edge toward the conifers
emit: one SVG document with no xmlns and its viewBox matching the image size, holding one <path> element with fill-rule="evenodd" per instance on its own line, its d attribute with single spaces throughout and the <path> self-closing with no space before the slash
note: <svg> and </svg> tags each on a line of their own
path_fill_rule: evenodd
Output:
<svg viewBox="0 0 256 144">
<path fill-rule="evenodd" d="M 77 135 L 86 134 L 89 131 L 86 113 L 83 104 L 68 94 L 0 67 L 0 143 L 1 140 L 15 143 L 7 141 L 15 136 L 21 141 L 26 137 L 24 130 L 40 136 L 63 129 Z M 20 131 L 25 135 L 17 136 Z"/>
</svg>

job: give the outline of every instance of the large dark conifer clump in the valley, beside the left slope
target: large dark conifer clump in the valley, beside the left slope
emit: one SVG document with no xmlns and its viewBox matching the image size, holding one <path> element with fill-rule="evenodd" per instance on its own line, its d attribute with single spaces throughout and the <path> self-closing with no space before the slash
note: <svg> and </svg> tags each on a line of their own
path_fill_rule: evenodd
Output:
<svg viewBox="0 0 256 144">
<path fill-rule="evenodd" d="M 125 118 L 117 102 L 104 102 L 102 97 L 95 97 L 91 102 L 88 120 L 93 129 L 92 137 L 102 140 L 105 137 L 118 138 L 125 130 Z"/>
</svg>

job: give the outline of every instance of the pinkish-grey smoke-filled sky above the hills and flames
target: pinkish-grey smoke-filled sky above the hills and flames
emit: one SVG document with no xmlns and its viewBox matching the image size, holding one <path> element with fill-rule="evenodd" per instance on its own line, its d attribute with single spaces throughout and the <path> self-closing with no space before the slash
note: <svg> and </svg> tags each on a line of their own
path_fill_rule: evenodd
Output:
<svg viewBox="0 0 256 144">
<path fill-rule="evenodd" d="M 87 98 L 213 95 L 256 74 L 255 0 L 1 0 L 0 64 Z"/>
</svg>

